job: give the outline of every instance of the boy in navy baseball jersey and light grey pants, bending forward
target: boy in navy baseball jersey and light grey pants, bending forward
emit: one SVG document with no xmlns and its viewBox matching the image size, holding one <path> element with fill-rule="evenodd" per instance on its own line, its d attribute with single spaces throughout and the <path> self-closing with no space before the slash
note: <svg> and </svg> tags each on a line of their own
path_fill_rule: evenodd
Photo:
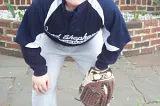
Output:
<svg viewBox="0 0 160 106">
<path fill-rule="evenodd" d="M 85 73 L 114 64 L 131 40 L 113 0 L 36 0 L 27 9 L 16 42 L 34 70 L 32 106 L 57 106 L 56 83 L 66 56 Z"/>
</svg>

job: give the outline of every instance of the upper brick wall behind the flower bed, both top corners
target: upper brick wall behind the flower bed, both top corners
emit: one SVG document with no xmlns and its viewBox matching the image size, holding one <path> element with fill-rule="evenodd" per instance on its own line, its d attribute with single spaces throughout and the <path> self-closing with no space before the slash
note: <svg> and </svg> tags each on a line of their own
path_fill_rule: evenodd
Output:
<svg viewBox="0 0 160 106">
<path fill-rule="evenodd" d="M 32 0 L 0 0 L 0 10 L 6 10 L 4 2 L 10 2 L 15 9 L 25 9 L 30 5 Z M 115 0 L 122 11 L 128 10 L 145 10 L 150 12 L 159 11 L 160 6 L 152 2 L 152 0 Z"/>
</svg>

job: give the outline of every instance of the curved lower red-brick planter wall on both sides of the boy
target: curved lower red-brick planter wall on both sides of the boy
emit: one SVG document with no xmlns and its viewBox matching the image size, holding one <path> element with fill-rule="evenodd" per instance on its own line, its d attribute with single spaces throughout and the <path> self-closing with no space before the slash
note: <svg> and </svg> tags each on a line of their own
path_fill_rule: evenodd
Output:
<svg viewBox="0 0 160 106">
<path fill-rule="evenodd" d="M 14 42 L 19 22 L 0 19 L 0 53 L 22 57 L 19 45 Z M 134 56 L 160 51 L 160 20 L 127 22 L 132 41 L 122 52 Z"/>
</svg>

